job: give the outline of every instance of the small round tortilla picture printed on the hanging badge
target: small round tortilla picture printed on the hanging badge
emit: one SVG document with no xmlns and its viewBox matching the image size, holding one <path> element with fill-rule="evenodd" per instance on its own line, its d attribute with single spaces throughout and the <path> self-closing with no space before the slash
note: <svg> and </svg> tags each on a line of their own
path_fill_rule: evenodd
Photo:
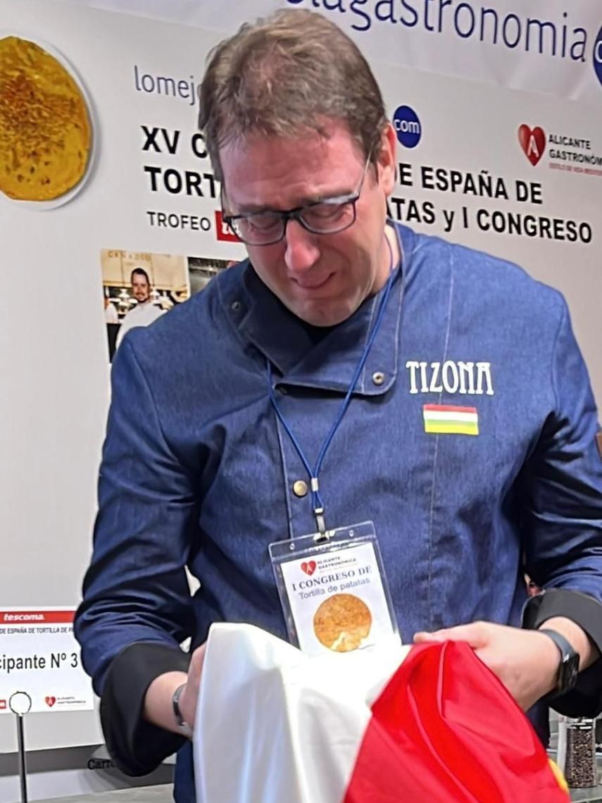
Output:
<svg viewBox="0 0 602 803">
<path fill-rule="evenodd" d="M 335 652 L 357 650 L 372 626 L 368 605 L 353 594 L 333 594 L 314 614 L 318 641 Z"/>
</svg>

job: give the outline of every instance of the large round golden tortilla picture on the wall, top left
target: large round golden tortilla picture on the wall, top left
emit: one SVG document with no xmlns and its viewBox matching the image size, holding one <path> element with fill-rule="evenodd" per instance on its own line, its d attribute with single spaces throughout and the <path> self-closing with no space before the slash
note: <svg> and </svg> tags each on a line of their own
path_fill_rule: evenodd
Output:
<svg viewBox="0 0 602 803">
<path fill-rule="evenodd" d="M 0 191 L 60 198 L 82 180 L 91 149 L 87 103 L 66 67 L 27 39 L 0 39 Z"/>
</svg>

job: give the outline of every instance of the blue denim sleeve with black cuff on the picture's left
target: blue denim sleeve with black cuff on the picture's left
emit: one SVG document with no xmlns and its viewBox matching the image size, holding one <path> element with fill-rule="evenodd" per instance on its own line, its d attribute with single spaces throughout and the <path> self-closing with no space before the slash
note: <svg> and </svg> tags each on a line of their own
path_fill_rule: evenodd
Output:
<svg viewBox="0 0 602 803">
<path fill-rule="evenodd" d="M 188 663 L 179 645 L 194 628 L 185 564 L 196 510 L 193 478 L 166 442 L 128 336 L 112 366 L 99 511 L 75 636 L 101 698 L 107 744 L 130 774 L 150 772 L 181 743 L 140 714 L 153 678 Z M 128 755 L 136 744 L 140 752 L 140 729 L 152 742 L 144 758 Z"/>
</svg>

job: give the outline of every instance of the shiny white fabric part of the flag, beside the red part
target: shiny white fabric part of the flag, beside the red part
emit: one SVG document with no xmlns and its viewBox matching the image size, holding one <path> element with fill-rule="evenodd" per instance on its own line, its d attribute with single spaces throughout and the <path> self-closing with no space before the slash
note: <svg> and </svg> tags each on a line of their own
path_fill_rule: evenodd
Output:
<svg viewBox="0 0 602 803">
<path fill-rule="evenodd" d="M 408 651 L 392 636 L 307 658 L 254 626 L 212 626 L 194 729 L 197 803 L 342 800 L 370 705 Z"/>
</svg>

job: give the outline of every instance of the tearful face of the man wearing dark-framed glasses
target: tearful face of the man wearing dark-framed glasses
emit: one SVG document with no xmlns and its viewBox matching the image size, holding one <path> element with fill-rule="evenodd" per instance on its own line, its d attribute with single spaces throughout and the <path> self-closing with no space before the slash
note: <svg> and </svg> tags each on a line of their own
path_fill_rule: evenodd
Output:
<svg viewBox="0 0 602 803">
<path fill-rule="evenodd" d="M 251 137 L 221 152 L 227 211 L 290 210 L 357 190 L 364 156 L 344 124 L 328 137 Z M 259 278 L 296 316 L 315 326 L 346 320 L 388 277 L 385 200 L 393 190 L 395 134 L 387 131 L 377 165 L 368 169 L 356 222 L 337 234 L 312 234 L 290 220 L 280 243 L 247 251 Z"/>
</svg>

